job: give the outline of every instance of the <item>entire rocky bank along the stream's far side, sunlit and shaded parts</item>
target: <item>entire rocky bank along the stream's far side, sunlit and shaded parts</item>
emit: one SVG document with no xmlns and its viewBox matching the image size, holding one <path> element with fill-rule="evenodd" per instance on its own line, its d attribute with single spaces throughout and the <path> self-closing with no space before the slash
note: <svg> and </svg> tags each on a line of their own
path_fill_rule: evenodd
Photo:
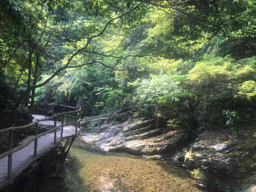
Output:
<svg viewBox="0 0 256 192">
<path fill-rule="evenodd" d="M 82 139 L 103 151 L 125 151 L 152 159 L 169 159 L 187 167 L 200 186 L 223 192 L 256 191 L 256 129 L 196 133 L 182 116 L 169 119 L 132 117 L 128 110 L 113 116 L 86 117 Z"/>
</svg>

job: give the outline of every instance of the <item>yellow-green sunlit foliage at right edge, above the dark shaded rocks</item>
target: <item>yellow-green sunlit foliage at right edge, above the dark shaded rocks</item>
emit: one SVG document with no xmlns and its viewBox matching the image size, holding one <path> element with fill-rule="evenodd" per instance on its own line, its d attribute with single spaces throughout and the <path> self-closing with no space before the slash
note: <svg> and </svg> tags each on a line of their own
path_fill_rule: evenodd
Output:
<svg viewBox="0 0 256 192">
<path fill-rule="evenodd" d="M 233 97 L 241 96 L 251 100 L 256 95 L 255 57 L 238 61 L 215 56 L 205 59 L 189 71 L 187 79 L 192 87 L 219 83 L 223 84 L 222 87 L 233 87 Z M 236 87 L 239 90 L 237 92 Z"/>
</svg>

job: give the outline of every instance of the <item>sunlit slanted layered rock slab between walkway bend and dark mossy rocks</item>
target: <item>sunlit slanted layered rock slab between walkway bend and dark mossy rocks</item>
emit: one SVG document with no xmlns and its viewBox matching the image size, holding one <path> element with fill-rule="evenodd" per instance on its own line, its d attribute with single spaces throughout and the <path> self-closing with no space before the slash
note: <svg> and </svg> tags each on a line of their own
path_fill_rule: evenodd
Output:
<svg viewBox="0 0 256 192">
<path fill-rule="evenodd" d="M 124 110 L 112 117 L 87 117 L 81 125 L 84 141 L 105 151 L 137 155 L 168 153 L 181 146 L 187 137 L 184 127 L 167 127 L 154 118 L 131 117 L 131 112 Z"/>
</svg>

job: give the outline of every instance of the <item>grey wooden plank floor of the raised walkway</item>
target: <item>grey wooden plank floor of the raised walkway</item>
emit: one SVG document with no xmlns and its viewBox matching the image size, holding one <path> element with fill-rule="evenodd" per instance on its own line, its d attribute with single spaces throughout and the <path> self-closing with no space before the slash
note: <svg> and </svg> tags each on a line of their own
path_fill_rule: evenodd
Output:
<svg viewBox="0 0 256 192">
<path fill-rule="evenodd" d="M 44 116 L 41 115 L 33 115 L 35 121 L 36 119 L 43 119 Z M 42 121 L 39 124 L 43 125 L 54 125 L 54 121 Z M 61 125 L 61 122 L 57 121 L 57 126 Z M 80 129 L 78 129 L 79 133 Z M 75 135 L 75 126 L 68 125 L 63 128 L 63 138 L 60 138 L 60 129 L 57 131 L 57 143 L 59 143 L 64 138 Z M 22 142 L 26 142 L 28 139 L 33 136 L 27 136 Z M 57 144 L 56 143 L 56 144 Z M 31 142 L 25 148 L 13 153 L 12 155 L 12 178 L 19 176 L 20 173 L 23 172 L 31 163 L 35 162 L 39 157 L 46 153 L 50 148 L 54 147 L 54 133 L 46 134 L 40 138 L 38 138 L 38 148 L 37 148 L 37 156 L 34 155 L 34 142 Z M 8 184 L 7 179 L 8 173 L 8 156 L 0 159 L 0 189 Z"/>
</svg>

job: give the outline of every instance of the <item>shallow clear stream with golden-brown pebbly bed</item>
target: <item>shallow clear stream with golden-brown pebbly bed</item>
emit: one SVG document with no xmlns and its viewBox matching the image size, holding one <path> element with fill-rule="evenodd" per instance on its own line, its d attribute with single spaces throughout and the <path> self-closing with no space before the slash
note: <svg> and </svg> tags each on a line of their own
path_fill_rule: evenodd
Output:
<svg viewBox="0 0 256 192">
<path fill-rule="evenodd" d="M 68 192 L 200 192 L 187 170 L 127 153 L 104 154 L 76 140 L 67 159 Z"/>
</svg>

